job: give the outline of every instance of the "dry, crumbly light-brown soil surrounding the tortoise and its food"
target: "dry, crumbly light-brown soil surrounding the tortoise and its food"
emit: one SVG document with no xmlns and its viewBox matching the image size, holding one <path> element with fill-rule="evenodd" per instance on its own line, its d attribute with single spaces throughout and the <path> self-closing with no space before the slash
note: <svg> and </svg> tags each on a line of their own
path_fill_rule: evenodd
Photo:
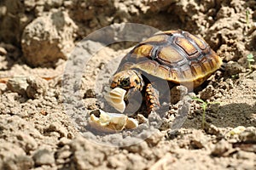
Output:
<svg viewBox="0 0 256 170">
<path fill-rule="evenodd" d="M 255 169 L 256 65 L 247 60 L 256 56 L 255 8 L 253 0 L 1 1 L 0 169 Z M 92 129 L 90 114 L 114 112 L 102 88 L 119 60 L 154 32 L 177 29 L 203 37 L 224 71 L 193 93 L 175 88 L 171 109 L 138 116 L 149 123 L 135 130 Z"/>
</svg>

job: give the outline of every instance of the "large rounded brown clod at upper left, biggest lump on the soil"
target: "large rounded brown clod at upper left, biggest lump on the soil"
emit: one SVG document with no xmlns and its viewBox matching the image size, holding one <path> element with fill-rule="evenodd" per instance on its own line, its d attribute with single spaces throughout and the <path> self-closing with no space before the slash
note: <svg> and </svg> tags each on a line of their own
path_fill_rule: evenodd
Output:
<svg viewBox="0 0 256 170">
<path fill-rule="evenodd" d="M 67 59 L 74 47 L 74 32 L 78 29 L 67 12 L 45 13 L 32 20 L 23 31 L 23 56 L 32 66 L 55 66 L 58 59 Z"/>
</svg>

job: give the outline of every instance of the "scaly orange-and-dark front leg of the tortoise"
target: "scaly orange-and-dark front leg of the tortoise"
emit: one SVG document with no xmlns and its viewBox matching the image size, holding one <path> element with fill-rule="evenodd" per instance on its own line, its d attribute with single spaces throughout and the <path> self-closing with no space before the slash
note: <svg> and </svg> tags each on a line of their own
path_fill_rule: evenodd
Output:
<svg viewBox="0 0 256 170">
<path fill-rule="evenodd" d="M 145 91 L 145 100 L 149 115 L 151 111 L 160 109 L 159 92 L 152 86 L 151 83 L 148 83 Z"/>
</svg>

